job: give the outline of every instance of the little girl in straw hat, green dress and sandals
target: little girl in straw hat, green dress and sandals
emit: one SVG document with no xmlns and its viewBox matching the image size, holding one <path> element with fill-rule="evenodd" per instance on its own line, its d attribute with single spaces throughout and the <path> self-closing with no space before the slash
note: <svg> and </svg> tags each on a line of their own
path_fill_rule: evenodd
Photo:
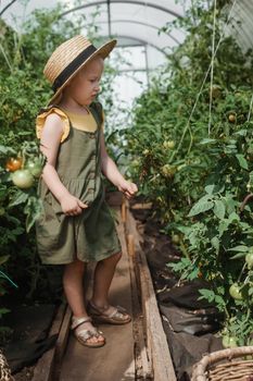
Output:
<svg viewBox="0 0 253 381">
<path fill-rule="evenodd" d="M 45 66 L 54 95 L 37 118 L 37 136 L 47 163 L 39 183 L 43 212 L 37 222 L 42 263 L 65 265 L 63 287 L 73 311 L 72 329 L 89 347 L 105 344 L 91 322 L 125 324 L 130 316 L 109 303 L 109 288 L 122 256 L 110 209 L 104 201 L 102 173 L 129 199 L 137 186 L 126 181 L 107 156 L 103 112 L 94 102 L 103 60 L 115 47 L 99 49 L 84 36 L 62 44 Z M 86 309 L 85 263 L 96 261 L 92 297 Z"/>
</svg>

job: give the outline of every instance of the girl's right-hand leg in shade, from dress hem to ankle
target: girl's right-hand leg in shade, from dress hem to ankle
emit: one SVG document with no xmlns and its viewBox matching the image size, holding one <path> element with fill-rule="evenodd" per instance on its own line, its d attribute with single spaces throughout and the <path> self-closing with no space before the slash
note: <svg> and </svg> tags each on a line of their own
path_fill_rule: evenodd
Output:
<svg viewBox="0 0 253 381">
<path fill-rule="evenodd" d="M 121 257 L 122 253 L 117 253 L 106 259 L 100 260 L 96 266 L 92 302 L 98 307 L 109 306 L 109 288 Z"/>
</svg>

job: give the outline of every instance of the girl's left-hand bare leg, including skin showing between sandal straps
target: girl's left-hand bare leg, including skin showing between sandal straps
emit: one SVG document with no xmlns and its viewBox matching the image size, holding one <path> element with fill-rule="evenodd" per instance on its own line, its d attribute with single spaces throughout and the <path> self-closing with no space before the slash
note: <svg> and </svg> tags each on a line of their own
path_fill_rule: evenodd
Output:
<svg viewBox="0 0 253 381">
<path fill-rule="evenodd" d="M 76 259 L 72 263 L 65 265 L 63 274 L 63 287 L 68 302 L 68 305 L 73 311 L 74 317 L 83 318 L 88 317 L 85 307 L 85 293 L 84 293 L 84 271 L 85 263 Z M 81 330 L 92 330 L 92 324 L 87 321 L 76 328 L 76 332 Z M 98 337 L 90 337 L 87 342 L 104 342 L 104 337 L 99 335 Z"/>
</svg>

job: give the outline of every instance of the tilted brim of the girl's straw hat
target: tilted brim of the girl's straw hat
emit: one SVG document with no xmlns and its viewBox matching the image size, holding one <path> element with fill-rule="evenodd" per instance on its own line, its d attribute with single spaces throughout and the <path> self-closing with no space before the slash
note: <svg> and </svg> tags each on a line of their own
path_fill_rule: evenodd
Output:
<svg viewBox="0 0 253 381">
<path fill-rule="evenodd" d="M 90 57 L 81 63 L 81 65 L 67 78 L 67 81 L 64 82 L 64 84 L 59 87 L 56 93 L 52 96 L 52 98 L 49 100 L 48 106 L 55 105 L 58 101 L 61 100 L 62 97 L 62 90 L 66 85 L 69 83 L 69 81 L 83 69 L 85 67 L 94 57 L 100 56 L 103 59 L 105 59 L 111 51 L 114 49 L 115 45 L 117 44 L 116 39 L 112 39 L 111 41 L 102 45 L 100 48 L 98 48 Z"/>
</svg>

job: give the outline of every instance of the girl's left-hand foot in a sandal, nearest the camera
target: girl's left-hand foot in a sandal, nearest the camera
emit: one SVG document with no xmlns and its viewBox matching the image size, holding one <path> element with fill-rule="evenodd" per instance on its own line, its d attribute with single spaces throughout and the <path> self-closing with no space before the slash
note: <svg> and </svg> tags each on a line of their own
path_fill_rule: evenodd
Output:
<svg viewBox="0 0 253 381">
<path fill-rule="evenodd" d="M 72 318 L 72 330 L 78 342 L 89 347 L 100 347 L 105 344 L 105 337 L 91 324 L 90 317 Z"/>
</svg>

